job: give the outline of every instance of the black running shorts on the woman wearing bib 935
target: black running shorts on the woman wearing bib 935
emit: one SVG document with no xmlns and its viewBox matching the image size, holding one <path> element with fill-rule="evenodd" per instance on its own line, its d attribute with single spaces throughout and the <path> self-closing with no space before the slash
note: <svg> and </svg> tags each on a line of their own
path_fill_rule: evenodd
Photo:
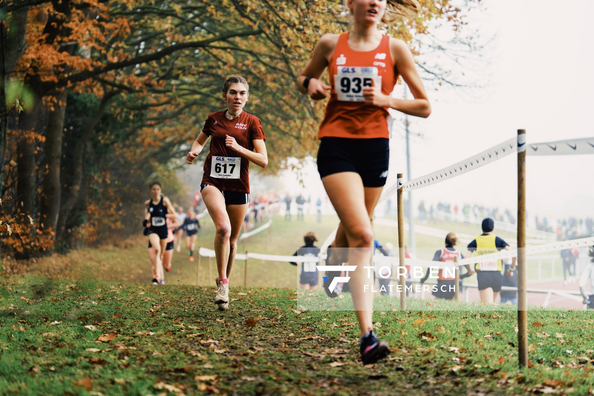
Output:
<svg viewBox="0 0 594 396">
<path fill-rule="evenodd" d="M 365 187 L 383 187 L 388 177 L 390 140 L 324 137 L 318 149 L 320 177 L 355 172 Z"/>
</svg>

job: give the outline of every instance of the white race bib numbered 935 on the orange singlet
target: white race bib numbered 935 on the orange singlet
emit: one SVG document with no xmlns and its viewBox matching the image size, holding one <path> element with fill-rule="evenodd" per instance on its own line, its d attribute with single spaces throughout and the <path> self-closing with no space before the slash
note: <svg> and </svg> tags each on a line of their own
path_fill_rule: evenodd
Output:
<svg viewBox="0 0 594 396">
<path fill-rule="evenodd" d="M 340 66 L 334 75 L 334 91 L 343 102 L 365 102 L 363 88 L 371 87 L 371 81 L 381 87 L 377 67 Z"/>
</svg>

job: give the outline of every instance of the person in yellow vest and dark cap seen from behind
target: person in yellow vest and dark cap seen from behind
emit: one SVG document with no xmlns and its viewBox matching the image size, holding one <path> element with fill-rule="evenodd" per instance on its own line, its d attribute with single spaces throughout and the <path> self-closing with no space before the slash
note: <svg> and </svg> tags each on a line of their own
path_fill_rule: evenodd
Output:
<svg viewBox="0 0 594 396">
<path fill-rule="evenodd" d="M 496 253 L 503 249 L 509 250 L 510 245 L 503 239 L 493 233 L 495 222 L 492 218 L 485 218 L 482 221 L 482 235 L 477 236 L 472 242 L 468 244 L 468 251 L 466 258 L 470 256 L 482 256 L 486 254 Z M 467 264 L 466 268 L 472 275 L 476 271 L 476 280 L 479 286 L 479 293 L 481 294 L 481 301 L 485 303 L 493 303 L 499 296 L 501 285 L 503 284 L 503 263 L 501 260 L 478 262 L 470 268 Z M 516 258 L 511 259 L 510 270 L 507 271 L 508 277 L 513 276 L 513 271 L 516 269 Z"/>
</svg>

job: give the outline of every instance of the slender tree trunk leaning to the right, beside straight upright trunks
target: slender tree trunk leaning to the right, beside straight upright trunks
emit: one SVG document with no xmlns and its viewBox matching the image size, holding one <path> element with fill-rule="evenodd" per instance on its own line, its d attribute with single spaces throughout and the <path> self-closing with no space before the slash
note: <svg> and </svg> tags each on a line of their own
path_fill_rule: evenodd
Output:
<svg viewBox="0 0 594 396">
<path fill-rule="evenodd" d="M 93 129 L 97 125 L 97 122 L 101 119 L 103 110 L 105 110 L 109 100 L 116 94 L 117 93 L 113 92 L 103 95 L 101 103 L 99 104 L 99 107 L 97 107 L 97 111 L 83 126 L 83 134 L 81 134 L 80 138 L 77 140 L 76 147 L 74 148 L 74 156 L 72 158 L 72 184 L 68 188 L 68 194 L 65 194 L 66 199 L 60 208 L 60 215 L 58 218 L 57 236 L 59 239 L 64 236 L 68 217 L 70 216 L 72 208 L 74 208 L 78 201 L 78 194 L 80 192 L 81 184 L 83 183 L 83 158 L 86 151 L 87 141 L 89 141 L 89 137 L 93 133 Z"/>
</svg>

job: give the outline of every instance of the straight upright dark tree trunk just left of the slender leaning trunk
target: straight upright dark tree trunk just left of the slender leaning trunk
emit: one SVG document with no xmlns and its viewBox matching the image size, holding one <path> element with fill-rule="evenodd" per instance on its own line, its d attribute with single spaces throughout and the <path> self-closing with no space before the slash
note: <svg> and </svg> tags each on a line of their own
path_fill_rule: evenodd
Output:
<svg viewBox="0 0 594 396">
<path fill-rule="evenodd" d="M 56 94 L 54 110 L 49 114 L 46 132 L 45 167 L 43 178 L 40 222 L 46 230 L 56 230 L 60 213 L 60 159 L 62 157 L 62 134 L 64 131 L 64 113 L 66 112 L 66 91 Z"/>
</svg>

